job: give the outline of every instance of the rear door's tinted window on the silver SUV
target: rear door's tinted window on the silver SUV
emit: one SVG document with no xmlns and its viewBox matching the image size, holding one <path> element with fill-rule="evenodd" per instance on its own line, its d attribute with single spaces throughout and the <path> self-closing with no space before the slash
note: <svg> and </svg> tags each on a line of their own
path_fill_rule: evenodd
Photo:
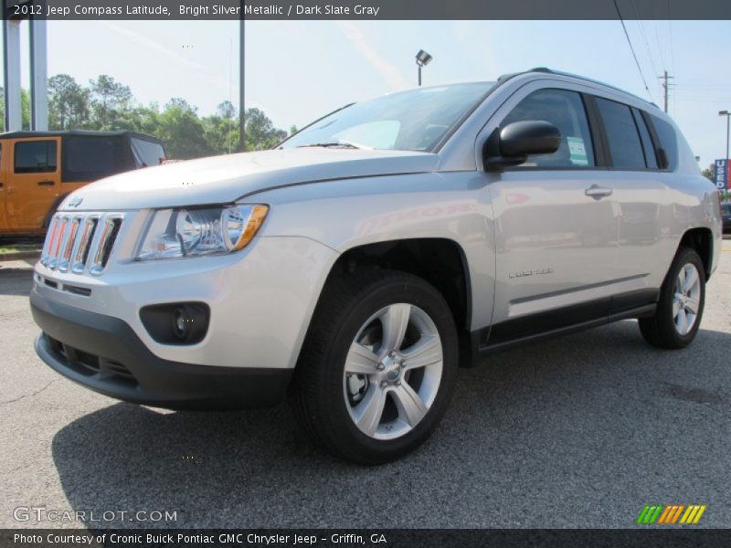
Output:
<svg viewBox="0 0 731 548">
<path fill-rule="evenodd" d="M 600 97 L 597 107 L 607 131 L 612 165 L 620 169 L 644 169 L 645 155 L 630 107 Z"/>
</svg>

